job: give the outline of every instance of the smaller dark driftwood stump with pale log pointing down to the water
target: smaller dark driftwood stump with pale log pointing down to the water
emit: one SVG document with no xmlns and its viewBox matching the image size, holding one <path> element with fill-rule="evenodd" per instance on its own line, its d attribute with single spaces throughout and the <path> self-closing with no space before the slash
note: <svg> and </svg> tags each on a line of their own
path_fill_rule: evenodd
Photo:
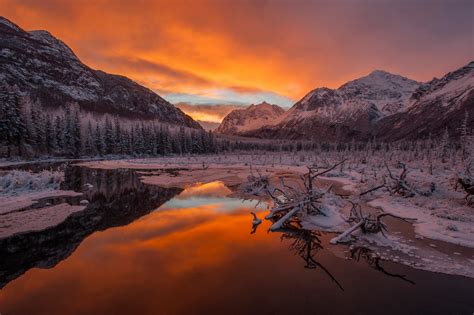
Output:
<svg viewBox="0 0 474 315">
<path fill-rule="evenodd" d="M 337 244 L 343 242 L 344 239 L 351 235 L 356 230 L 362 230 L 362 233 L 382 233 L 385 236 L 385 232 L 388 232 L 387 226 L 385 223 L 382 222 L 382 218 L 384 217 L 392 217 L 395 219 L 399 219 L 405 222 L 412 222 L 416 219 L 407 219 L 402 218 L 390 213 L 376 213 L 376 214 L 364 214 L 362 212 L 362 208 L 359 204 L 349 201 L 352 204 L 351 212 L 349 218 L 346 220 L 348 223 L 355 223 L 355 225 L 351 226 L 348 230 L 340 234 L 339 236 L 333 238 L 330 243 Z"/>
</svg>

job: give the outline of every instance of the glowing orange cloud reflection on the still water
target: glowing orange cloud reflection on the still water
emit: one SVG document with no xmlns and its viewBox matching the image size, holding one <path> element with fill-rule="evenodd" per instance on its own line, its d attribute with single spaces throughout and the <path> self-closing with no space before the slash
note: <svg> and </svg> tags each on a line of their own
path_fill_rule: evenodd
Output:
<svg viewBox="0 0 474 315">
<path fill-rule="evenodd" d="M 96 233 L 54 269 L 34 269 L 10 283 L 0 295 L 2 312 L 33 314 L 38 305 L 47 305 L 51 314 L 67 313 L 65 309 L 118 314 L 133 305 L 133 313 L 153 308 L 175 313 L 166 311 L 167 305 L 181 305 L 183 296 L 189 296 L 188 301 L 205 298 L 201 294 L 211 280 L 199 279 L 196 288 L 189 283 L 196 272 L 209 275 L 210 270 L 230 264 L 238 244 L 246 241 L 248 232 L 243 233 L 242 227 L 248 228 L 250 209 L 235 210 L 226 216 L 213 206 L 158 210 L 128 226 Z M 264 233 L 253 237 L 269 242 Z M 221 279 L 219 273 L 216 279 Z"/>
</svg>

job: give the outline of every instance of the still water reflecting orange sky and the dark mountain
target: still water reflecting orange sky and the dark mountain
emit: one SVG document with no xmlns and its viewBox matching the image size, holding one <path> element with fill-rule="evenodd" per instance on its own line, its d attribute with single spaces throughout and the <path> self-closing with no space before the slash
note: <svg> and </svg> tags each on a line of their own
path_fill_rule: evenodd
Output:
<svg viewBox="0 0 474 315">
<path fill-rule="evenodd" d="M 297 226 L 252 232 L 256 202 L 220 182 L 143 185 L 129 170 L 69 167 L 94 188 L 59 226 L 0 241 L 1 314 L 472 314 L 474 280 L 326 249 Z"/>
</svg>

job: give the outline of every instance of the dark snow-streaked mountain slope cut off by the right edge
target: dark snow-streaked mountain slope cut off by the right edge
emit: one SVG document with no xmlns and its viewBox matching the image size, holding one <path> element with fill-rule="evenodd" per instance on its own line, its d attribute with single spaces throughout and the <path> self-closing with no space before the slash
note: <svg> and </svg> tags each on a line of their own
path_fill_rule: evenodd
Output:
<svg viewBox="0 0 474 315">
<path fill-rule="evenodd" d="M 441 79 L 422 84 L 411 96 L 404 112 L 386 117 L 378 124 L 382 140 L 440 137 L 448 129 L 458 138 L 468 113 L 468 128 L 474 127 L 474 61 Z"/>
</svg>

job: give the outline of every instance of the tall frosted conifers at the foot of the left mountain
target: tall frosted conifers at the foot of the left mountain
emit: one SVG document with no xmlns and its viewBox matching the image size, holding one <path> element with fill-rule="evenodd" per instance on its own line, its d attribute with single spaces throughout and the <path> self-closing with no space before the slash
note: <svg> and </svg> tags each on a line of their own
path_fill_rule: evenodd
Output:
<svg viewBox="0 0 474 315">
<path fill-rule="evenodd" d="M 123 122 L 109 115 L 86 118 L 74 104 L 51 112 L 5 84 L 0 90 L 0 143 L 4 157 L 156 156 L 217 150 L 211 132 L 152 121 Z"/>
</svg>

